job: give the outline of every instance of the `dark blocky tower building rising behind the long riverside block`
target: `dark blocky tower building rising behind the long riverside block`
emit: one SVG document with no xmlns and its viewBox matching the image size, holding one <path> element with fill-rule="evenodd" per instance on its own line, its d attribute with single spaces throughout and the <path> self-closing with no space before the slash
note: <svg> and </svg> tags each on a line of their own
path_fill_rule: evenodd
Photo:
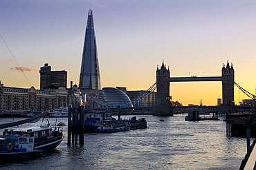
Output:
<svg viewBox="0 0 256 170">
<path fill-rule="evenodd" d="M 40 68 L 40 89 L 57 89 L 58 87 L 66 88 L 67 72 L 51 71 L 51 66 L 45 63 Z"/>
</svg>

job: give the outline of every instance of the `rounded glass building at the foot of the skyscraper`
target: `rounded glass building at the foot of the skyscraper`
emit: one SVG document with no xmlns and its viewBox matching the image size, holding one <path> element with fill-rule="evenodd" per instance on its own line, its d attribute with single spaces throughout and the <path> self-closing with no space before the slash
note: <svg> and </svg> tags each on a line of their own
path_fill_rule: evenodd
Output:
<svg viewBox="0 0 256 170">
<path fill-rule="evenodd" d="M 103 99 L 106 103 L 111 105 L 121 105 L 123 107 L 133 107 L 131 99 L 127 94 L 122 92 L 120 89 L 114 87 L 104 87 L 102 88 Z"/>
</svg>

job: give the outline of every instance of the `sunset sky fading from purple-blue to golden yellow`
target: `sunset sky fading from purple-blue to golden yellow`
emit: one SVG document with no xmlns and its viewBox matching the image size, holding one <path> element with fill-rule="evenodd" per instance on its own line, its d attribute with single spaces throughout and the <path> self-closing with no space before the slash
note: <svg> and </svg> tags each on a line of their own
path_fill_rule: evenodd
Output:
<svg viewBox="0 0 256 170">
<path fill-rule="evenodd" d="M 93 10 L 102 87 L 148 89 L 162 62 L 171 76 L 221 76 L 255 94 L 256 1 L 1 0 L 0 81 L 39 89 L 39 70 L 68 72 L 78 85 L 89 9 Z M 28 78 L 28 81 L 26 80 Z M 172 100 L 217 105 L 221 82 L 171 83 Z M 246 96 L 235 87 L 235 103 Z"/>
</svg>

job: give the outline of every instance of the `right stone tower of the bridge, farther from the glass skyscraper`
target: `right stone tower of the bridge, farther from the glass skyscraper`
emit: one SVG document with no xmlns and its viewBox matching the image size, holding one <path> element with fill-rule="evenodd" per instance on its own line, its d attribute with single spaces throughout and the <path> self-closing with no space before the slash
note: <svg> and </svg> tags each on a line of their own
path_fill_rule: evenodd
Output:
<svg viewBox="0 0 256 170">
<path fill-rule="evenodd" d="M 222 67 L 222 104 L 223 106 L 232 106 L 234 101 L 234 80 L 235 71 L 231 63 L 227 63 L 226 67 Z"/>
</svg>

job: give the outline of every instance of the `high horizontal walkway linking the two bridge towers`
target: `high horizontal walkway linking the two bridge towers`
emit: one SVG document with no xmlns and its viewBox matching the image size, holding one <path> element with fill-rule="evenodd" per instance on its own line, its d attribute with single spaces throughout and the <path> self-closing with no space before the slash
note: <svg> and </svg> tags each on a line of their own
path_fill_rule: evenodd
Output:
<svg viewBox="0 0 256 170">
<path fill-rule="evenodd" d="M 191 76 L 191 77 L 169 77 L 167 81 L 183 82 L 183 81 L 222 81 L 222 76 Z"/>
</svg>

